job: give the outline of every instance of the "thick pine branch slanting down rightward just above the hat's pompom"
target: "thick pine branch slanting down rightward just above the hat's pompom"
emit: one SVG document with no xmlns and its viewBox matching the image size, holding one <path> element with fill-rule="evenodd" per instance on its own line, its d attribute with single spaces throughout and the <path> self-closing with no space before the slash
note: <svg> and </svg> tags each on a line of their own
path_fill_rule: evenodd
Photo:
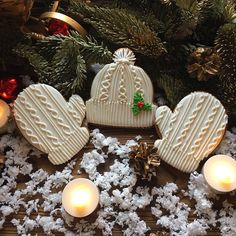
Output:
<svg viewBox="0 0 236 236">
<path fill-rule="evenodd" d="M 75 1 L 70 10 L 75 14 L 83 14 L 86 23 L 114 44 L 153 58 L 166 51 L 161 40 L 146 24 L 125 10 L 89 7 Z"/>
</svg>

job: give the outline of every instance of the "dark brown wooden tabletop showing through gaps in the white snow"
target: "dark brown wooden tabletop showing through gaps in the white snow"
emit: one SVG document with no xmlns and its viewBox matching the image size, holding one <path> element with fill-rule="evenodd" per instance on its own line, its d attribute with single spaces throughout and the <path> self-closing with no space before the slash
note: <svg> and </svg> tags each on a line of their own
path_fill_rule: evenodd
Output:
<svg viewBox="0 0 236 236">
<path fill-rule="evenodd" d="M 89 127 L 90 130 L 95 128 L 94 126 Z M 100 128 L 101 132 L 105 136 L 111 136 L 111 137 L 116 137 L 118 140 L 124 144 L 126 143 L 127 140 L 133 139 L 137 135 L 141 135 L 143 137 L 143 141 L 146 141 L 149 144 L 153 144 L 154 141 L 157 139 L 156 131 L 154 128 L 152 129 L 118 129 L 118 128 Z M 92 150 L 93 146 L 91 143 L 89 143 L 75 158 L 78 158 L 76 167 L 73 171 L 73 174 L 76 176 L 77 169 L 79 168 L 79 163 L 80 163 L 80 158 L 82 157 L 84 152 L 88 152 L 89 150 Z M 54 173 L 55 170 L 60 170 L 63 169 L 63 165 L 61 166 L 54 166 L 52 165 L 47 158 L 39 158 L 32 160 L 32 162 L 35 162 L 35 166 L 37 168 L 43 168 L 44 170 L 48 171 L 49 173 Z M 109 165 L 109 163 L 107 163 Z M 201 170 L 201 166 L 199 167 L 199 171 Z M 189 179 L 189 175 L 182 173 L 171 166 L 167 165 L 166 163 L 162 162 L 161 166 L 158 168 L 158 173 L 157 177 L 149 183 L 150 187 L 154 186 L 161 186 L 165 185 L 167 182 L 174 182 L 178 185 L 179 189 L 186 189 L 187 187 L 187 181 Z M 23 181 L 22 181 L 23 182 Z M 142 184 L 142 181 L 140 181 Z M 140 183 L 139 183 L 140 184 Z M 143 183 L 144 184 L 144 183 Z M 146 183 L 145 183 L 146 184 Z M 189 199 L 181 197 L 181 201 L 188 203 L 190 206 L 193 206 L 194 201 L 190 202 Z M 229 202 L 232 202 L 234 205 L 236 205 L 236 199 L 233 198 L 232 196 L 230 197 L 227 194 L 221 195 L 220 199 L 214 204 L 215 209 L 220 209 L 221 208 L 221 203 L 227 199 Z M 44 213 L 42 209 L 39 209 L 39 212 L 37 214 L 33 214 L 33 216 L 36 216 L 40 214 L 41 216 L 43 215 L 48 215 L 48 213 Z M 150 232 L 156 232 L 156 231 L 163 231 L 162 228 L 156 225 L 156 218 L 152 216 L 150 212 L 150 207 L 146 207 L 143 210 L 139 210 L 138 214 L 141 219 L 143 219 L 147 225 L 152 229 Z M 20 210 L 20 212 L 17 215 L 14 215 L 14 218 L 22 219 L 25 216 L 24 210 Z M 7 221 L 4 224 L 4 228 L 0 230 L 0 236 L 12 236 L 12 235 L 17 235 L 16 234 L 16 229 L 15 227 L 11 224 L 11 219 L 12 217 L 9 217 Z M 94 222 L 96 219 L 96 212 L 91 214 L 90 216 L 85 218 L 88 221 Z M 193 213 L 190 214 L 190 221 L 194 220 L 194 215 Z M 147 235 L 149 235 L 149 233 Z M 220 235 L 219 232 L 216 229 L 211 229 L 208 231 L 208 235 Z M 38 236 L 43 236 L 45 235 L 41 229 L 38 229 L 37 232 L 33 232 L 31 235 L 38 235 Z M 63 235 L 60 233 L 55 233 L 55 235 Z M 96 235 L 102 235 L 101 232 L 97 232 Z M 113 235 L 119 236 L 122 235 L 120 228 L 116 227 L 113 231 Z"/>
</svg>

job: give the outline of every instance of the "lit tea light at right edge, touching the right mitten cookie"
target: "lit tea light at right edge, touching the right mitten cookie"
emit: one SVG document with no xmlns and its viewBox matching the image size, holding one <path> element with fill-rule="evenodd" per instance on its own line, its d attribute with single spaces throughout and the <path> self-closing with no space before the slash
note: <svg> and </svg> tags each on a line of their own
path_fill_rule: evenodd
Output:
<svg viewBox="0 0 236 236">
<path fill-rule="evenodd" d="M 236 189 L 236 161 L 226 155 L 216 155 L 203 166 L 206 182 L 218 192 Z"/>
</svg>

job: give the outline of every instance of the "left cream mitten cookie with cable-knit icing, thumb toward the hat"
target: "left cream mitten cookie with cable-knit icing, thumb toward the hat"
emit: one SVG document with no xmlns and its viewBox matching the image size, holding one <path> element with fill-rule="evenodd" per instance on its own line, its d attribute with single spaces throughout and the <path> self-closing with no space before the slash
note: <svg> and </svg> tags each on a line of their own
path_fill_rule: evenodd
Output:
<svg viewBox="0 0 236 236">
<path fill-rule="evenodd" d="M 24 137 L 49 160 L 62 164 L 78 153 L 89 139 L 80 127 L 85 116 L 81 97 L 69 102 L 53 87 L 34 84 L 19 94 L 14 103 L 14 117 Z"/>
</svg>

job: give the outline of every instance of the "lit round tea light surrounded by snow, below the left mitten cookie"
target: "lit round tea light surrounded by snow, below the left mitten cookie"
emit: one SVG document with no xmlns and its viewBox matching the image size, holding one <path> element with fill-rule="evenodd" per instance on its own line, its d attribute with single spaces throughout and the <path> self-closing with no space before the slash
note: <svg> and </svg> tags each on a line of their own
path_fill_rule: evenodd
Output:
<svg viewBox="0 0 236 236">
<path fill-rule="evenodd" d="M 62 193 L 62 205 L 74 217 L 91 214 L 99 202 L 99 190 L 90 180 L 84 178 L 69 182 Z"/>
</svg>

